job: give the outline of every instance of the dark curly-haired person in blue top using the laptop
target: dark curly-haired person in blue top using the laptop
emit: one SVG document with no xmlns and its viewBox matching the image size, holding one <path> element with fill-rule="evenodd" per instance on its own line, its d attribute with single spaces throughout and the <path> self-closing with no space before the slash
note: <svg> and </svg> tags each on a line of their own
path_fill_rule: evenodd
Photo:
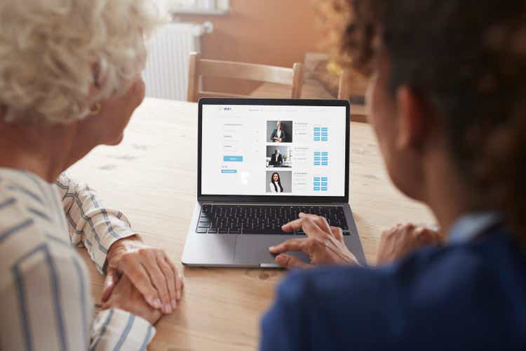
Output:
<svg viewBox="0 0 526 351">
<path fill-rule="evenodd" d="M 334 2 L 387 171 L 443 234 L 398 225 L 384 265 L 356 267 L 323 218 L 288 223 L 308 238 L 271 248 L 278 263 L 349 265 L 290 274 L 262 350 L 526 350 L 526 2 Z"/>
</svg>

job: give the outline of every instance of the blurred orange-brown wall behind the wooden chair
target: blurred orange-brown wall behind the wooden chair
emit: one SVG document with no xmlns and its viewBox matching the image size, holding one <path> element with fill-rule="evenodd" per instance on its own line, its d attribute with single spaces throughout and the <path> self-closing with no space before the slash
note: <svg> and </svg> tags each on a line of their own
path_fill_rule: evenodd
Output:
<svg viewBox="0 0 526 351">
<path fill-rule="evenodd" d="M 309 0 L 230 0 L 225 15 L 181 15 L 177 20 L 214 25 L 201 41 L 203 58 L 292 67 L 305 53 L 320 51 L 321 36 Z M 208 90 L 248 94 L 259 84 L 208 79 Z"/>
</svg>

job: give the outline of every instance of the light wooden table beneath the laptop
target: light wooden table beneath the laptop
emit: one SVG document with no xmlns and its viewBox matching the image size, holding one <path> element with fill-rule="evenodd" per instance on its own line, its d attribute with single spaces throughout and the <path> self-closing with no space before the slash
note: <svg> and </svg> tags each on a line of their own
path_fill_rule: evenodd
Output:
<svg viewBox="0 0 526 351">
<path fill-rule="evenodd" d="M 149 244 L 166 249 L 185 277 L 182 303 L 157 324 L 149 350 L 257 350 L 259 317 L 269 307 L 281 270 L 182 267 L 196 201 L 197 105 L 147 98 L 123 143 L 97 147 L 69 174 L 89 183 L 105 203 L 126 213 Z M 400 220 L 434 223 L 422 204 L 393 188 L 371 128 L 351 125 L 351 207 L 365 254 L 375 262 L 379 234 Z M 95 302 L 102 277 L 91 273 Z"/>
</svg>

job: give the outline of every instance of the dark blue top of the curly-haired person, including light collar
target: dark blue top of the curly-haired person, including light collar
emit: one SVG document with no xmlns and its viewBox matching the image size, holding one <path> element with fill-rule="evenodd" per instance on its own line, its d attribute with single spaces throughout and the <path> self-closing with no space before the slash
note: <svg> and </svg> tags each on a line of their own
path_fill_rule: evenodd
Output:
<svg viewBox="0 0 526 351">
<path fill-rule="evenodd" d="M 295 270 L 261 350 L 526 350 L 526 253 L 485 213 L 391 265 Z"/>
</svg>

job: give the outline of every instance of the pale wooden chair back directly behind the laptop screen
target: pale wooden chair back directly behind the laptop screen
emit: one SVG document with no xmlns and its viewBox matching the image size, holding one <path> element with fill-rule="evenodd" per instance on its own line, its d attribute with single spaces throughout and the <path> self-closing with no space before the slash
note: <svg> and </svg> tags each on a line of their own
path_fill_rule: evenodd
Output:
<svg viewBox="0 0 526 351">
<path fill-rule="evenodd" d="M 199 98 L 250 98 L 248 95 L 201 90 L 201 77 L 221 77 L 264 81 L 292 86 L 290 95 L 283 98 L 299 99 L 302 95 L 303 66 L 296 62 L 292 68 L 254 65 L 244 62 L 207 60 L 199 53 L 190 54 L 188 74 L 188 101 Z"/>
</svg>

